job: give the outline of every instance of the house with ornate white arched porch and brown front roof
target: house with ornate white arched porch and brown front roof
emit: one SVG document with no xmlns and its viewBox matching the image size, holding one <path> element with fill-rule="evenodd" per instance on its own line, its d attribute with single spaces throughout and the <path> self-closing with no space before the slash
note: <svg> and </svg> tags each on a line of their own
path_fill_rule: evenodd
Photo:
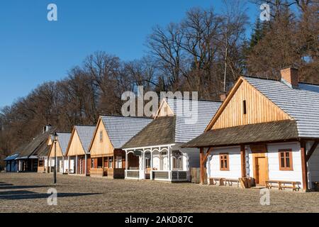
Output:
<svg viewBox="0 0 319 227">
<path fill-rule="evenodd" d="M 125 179 L 189 181 L 191 168 L 199 167 L 198 151 L 181 145 L 204 131 L 220 104 L 163 99 L 152 123 L 123 146 L 127 157 L 138 159 L 138 168 L 125 163 Z"/>
</svg>

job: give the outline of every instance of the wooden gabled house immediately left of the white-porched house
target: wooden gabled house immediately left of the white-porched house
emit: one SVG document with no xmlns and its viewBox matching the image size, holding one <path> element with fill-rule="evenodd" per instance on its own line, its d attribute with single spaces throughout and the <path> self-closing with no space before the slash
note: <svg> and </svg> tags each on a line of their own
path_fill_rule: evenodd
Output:
<svg viewBox="0 0 319 227">
<path fill-rule="evenodd" d="M 89 153 L 91 154 L 91 177 L 124 178 L 125 162 L 135 162 L 135 157 L 125 157 L 121 147 L 151 118 L 101 116 L 96 126 Z"/>
</svg>

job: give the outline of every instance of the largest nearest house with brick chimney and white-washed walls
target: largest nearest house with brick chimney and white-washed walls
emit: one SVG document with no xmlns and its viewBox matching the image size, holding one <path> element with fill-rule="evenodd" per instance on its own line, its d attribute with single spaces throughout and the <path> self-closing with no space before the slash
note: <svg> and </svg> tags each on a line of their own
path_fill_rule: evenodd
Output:
<svg viewBox="0 0 319 227">
<path fill-rule="evenodd" d="M 298 70 L 280 80 L 240 77 L 205 133 L 184 145 L 199 148 L 201 182 L 313 189 L 319 182 L 319 86 L 298 82 Z M 230 183 L 231 184 L 231 183 Z"/>
</svg>

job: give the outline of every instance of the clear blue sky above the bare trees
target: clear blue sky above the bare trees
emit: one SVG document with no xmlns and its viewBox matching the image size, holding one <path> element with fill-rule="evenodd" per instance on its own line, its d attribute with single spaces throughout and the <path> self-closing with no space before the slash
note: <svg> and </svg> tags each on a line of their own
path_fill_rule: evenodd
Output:
<svg viewBox="0 0 319 227">
<path fill-rule="evenodd" d="M 57 4 L 58 21 L 47 21 Z M 179 22 L 191 7 L 209 0 L 3 0 L 0 4 L 0 107 L 48 80 L 62 79 L 96 50 L 134 60 L 145 54 L 152 27 Z M 247 3 L 252 21 L 257 6 Z"/>
</svg>

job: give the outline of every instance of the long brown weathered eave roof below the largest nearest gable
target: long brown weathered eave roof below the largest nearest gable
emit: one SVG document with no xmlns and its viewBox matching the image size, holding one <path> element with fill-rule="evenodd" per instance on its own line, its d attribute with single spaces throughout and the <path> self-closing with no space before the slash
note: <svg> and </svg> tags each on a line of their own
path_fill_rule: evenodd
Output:
<svg viewBox="0 0 319 227">
<path fill-rule="evenodd" d="M 207 131 L 183 148 L 208 148 L 298 139 L 296 121 L 273 121 Z"/>
</svg>

